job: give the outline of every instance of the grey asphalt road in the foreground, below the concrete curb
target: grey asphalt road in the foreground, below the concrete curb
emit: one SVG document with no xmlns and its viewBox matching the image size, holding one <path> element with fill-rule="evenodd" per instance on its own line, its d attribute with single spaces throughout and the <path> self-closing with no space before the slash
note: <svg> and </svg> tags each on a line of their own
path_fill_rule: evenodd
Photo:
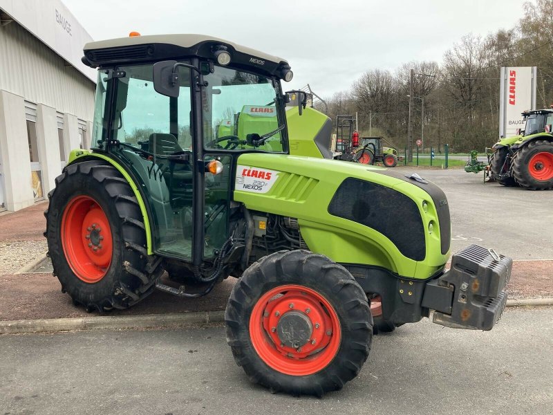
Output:
<svg viewBox="0 0 553 415">
<path fill-rule="evenodd" d="M 489 332 L 406 324 L 321 399 L 251 384 L 223 326 L 2 335 L 0 414 L 552 414 L 552 321 L 521 308 Z"/>
</svg>

